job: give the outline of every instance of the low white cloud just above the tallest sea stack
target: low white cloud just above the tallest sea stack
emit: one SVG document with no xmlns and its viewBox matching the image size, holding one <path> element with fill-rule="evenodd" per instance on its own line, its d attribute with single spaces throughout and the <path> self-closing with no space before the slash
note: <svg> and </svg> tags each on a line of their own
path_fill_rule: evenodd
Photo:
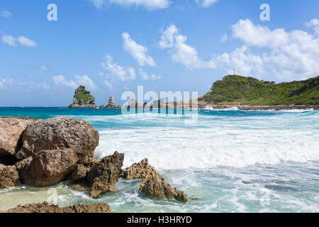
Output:
<svg viewBox="0 0 319 227">
<path fill-rule="evenodd" d="M 62 75 L 54 76 L 52 78 L 55 84 L 62 85 L 65 87 L 71 87 L 72 89 L 79 87 L 79 85 L 84 85 L 85 87 L 93 91 L 97 89 L 96 85 L 94 84 L 94 82 L 92 81 L 90 77 L 86 75 L 80 77 L 77 74 L 74 75 L 74 77 L 75 77 L 75 81 L 73 79 L 67 80 Z"/>
</svg>

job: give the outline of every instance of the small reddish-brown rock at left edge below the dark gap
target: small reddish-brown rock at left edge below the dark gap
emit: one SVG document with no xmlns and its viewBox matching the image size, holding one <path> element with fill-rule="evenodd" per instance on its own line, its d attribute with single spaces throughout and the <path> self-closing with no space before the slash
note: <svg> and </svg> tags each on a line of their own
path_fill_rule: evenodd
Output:
<svg viewBox="0 0 319 227">
<path fill-rule="evenodd" d="M 0 189 L 8 189 L 20 185 L 18 171 L 14 165 L 0 164 Z"/>
</svg>

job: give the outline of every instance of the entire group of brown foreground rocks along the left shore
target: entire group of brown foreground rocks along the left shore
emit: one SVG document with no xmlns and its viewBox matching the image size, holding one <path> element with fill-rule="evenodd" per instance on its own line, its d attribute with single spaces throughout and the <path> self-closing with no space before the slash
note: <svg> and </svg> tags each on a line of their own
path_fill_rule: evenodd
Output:
<svg viewBox="0 0 319 227">
<path fill-rule="evenodd" d="M 99 133 L 81 119 L 69 117 L 0 117 L 0 189 L 23 184 L 49 187 L 71 180 L 74 187 L 87 190 L 92 198 L 116 191 L 119 178 L 140 179 L 140 192 L 147 196 L 186 202 L 184 192 L 173 188 L 148 160 L 122 169 L 124 154 L 94 159 Z M 27 204 L 7 212 L 81 213 L 111 212 L 105 204 L 74 205 L 59 208 L 55 204 Z"/>
</svg>

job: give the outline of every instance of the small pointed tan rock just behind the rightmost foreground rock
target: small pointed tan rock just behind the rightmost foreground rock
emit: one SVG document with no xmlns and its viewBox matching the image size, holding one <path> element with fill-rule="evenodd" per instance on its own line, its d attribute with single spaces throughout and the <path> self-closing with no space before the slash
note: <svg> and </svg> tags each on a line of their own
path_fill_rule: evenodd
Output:
<svg viewBox="0 0 319 227">
<path fill-rule="evenodd" d="M 147 158 L 125 168 L 121 174 L 121 177 L 125 179 L 148 179 L 152 177 L 158 177 L 159 179 L 164 180 L 163 177 L 155 170 L 155 167 L 148 165 Z"/>
</svg>

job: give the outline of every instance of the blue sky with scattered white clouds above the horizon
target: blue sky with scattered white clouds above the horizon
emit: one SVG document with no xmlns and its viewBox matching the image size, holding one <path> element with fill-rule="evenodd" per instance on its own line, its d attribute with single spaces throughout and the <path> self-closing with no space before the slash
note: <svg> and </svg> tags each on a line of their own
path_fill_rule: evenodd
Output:
<svg viewBox="0 0 319 227">
<path fill-rule="evenodd" d="M 79 85 L 97 105 L 138 86 L 201 96 L 234 68 L 289 82 L 318 62 L 318 0 L 0 2 L 0 106 L 68 106 Z"/>
</svg>

